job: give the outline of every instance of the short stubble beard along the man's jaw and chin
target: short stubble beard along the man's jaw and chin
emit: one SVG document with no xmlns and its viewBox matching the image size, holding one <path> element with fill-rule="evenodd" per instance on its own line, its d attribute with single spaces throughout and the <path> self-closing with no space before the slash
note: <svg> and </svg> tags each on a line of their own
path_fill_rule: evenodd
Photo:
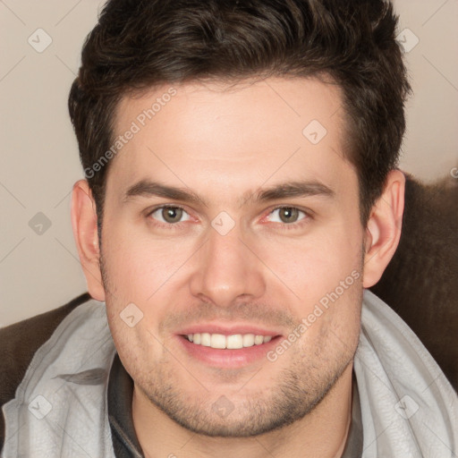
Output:
<svg viewBox="0 0 458 458">
<path fill-rule="evenodd" d="M 100 269 L 106 291 L 113 291 L 110 290 L 113 284 L 110 283 L 102 256 Z M 362 277 L 362 267 L 360 272 Z M 362 285 L 353 284 L 351 294 L 352 307 L 360 310 Z M 107 294 L 107 301 L 111 301 L 112 297 L 111 294 Z M 346 306 L 348 307 L 348 303 Z M 110 305 L 107 304 L 107 307 Z M 262 377 L 263 373 L 268 374 L 269 369 L 275 367 L 275 363 L 267 359 L 263 369 L 242 389 L 240 386 L 243 383 L 235 384 L 239 387 L 217 395 L 205 390 L 205 380 L 203 384 L 195 382 L 197 390 L 194 394 L 183 391 L 183 386 L 192 385 L 191 376 L 189 383 L 183 381 L 182 386 L 179 383 L 174 384 L 177 362 L 166 351 L 149 370 L 134 368 L 136 370 L 131 372 L 134 372 L 135 377 L 132 378 L 152 405 L 192 433 L 207 437 L 255 437 L 303 419 L 321 403 L 343 375 L 344 370 L 352 363 L 358 337 L 354 335 L 352 342 L 341 341 L 340 346 L 336 344 L 340 352 L 333 355 L 332 352 L 323 352 L 320 344 L 327 342 L 327 345 L 331 345 L 329 342 L 335 342 L 336 335 L 329 333 L 328 330 L 323 332 L 327 334 L 325 339 L 316 342 L 312 347 L 301 348 L 301 339 L 293 344 L 284 356 L 291 358 L 289 367 L 278 372 L 275 386 L 257 393 L 253 393 L 256 378 Z M 292 352 L 291 356 L 288 355 L 289 352 Z M 231 377 L 236 378 L 236 375 Z M 245 395 L 243 391 L 246 392 Z M 222 396 L 233 405 L 233 410 L 226 416 L 218 414 L 218 409 L 215 408 L 217 400 Z"/>
</svg>

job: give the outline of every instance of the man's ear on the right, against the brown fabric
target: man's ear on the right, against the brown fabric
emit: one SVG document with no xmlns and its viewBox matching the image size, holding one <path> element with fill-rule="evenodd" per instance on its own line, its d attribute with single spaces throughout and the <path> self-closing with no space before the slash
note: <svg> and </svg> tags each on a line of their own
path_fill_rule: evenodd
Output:
<svg viewBox="0 0 458 458">
<path fill-rule="evenodd" d="M 378 282 L 394 256 L 403 226 L 405 176 L 392 170 L 381 197 L 372 207 L 366 227 L 363 286 Z"/>
</svg>

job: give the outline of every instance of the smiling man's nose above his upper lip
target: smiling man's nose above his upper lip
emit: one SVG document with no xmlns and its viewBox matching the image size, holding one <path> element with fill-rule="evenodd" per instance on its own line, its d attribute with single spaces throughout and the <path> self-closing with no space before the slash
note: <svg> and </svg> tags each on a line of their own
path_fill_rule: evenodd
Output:
<svg viewBox="0 0 458 458">
<path fill-rule="evenodd" d="M 210 227 L 207 242 L 193 257 L 191 293 L 225 308 L 259 299 L 266 292 L 266 267 L 257 254 L 237 225 L 225 235 Z"/>
</svg>

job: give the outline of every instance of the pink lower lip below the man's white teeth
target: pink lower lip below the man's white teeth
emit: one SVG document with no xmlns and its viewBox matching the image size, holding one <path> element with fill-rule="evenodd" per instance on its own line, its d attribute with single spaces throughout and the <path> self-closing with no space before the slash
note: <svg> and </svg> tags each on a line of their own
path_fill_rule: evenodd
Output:
<svg viewBox="0 0 458 458">
<path fill-rule="evenodd" d="M 184 350 L 196 360 L 219 368 L 240 368 L 256 362 L 257 360 L 267 358 L 267 352 L 275 348 L 277 341 L 281 338 L 281 335 L 273 337 L 270 342 L 265 344 L 253 345 L 246 348 L 243 347 L 236 350 L 230 350 L 227 348 L 218 349 L 206 347 L 204 345 L 192 344 L 183 335 L 177 335 L 177 337 Z"/>
</svg>

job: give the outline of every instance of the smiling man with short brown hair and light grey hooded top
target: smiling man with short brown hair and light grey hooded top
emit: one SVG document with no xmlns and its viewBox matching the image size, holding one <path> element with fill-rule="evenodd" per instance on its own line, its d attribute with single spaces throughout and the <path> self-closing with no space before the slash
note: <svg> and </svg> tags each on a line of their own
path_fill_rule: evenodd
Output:
<svg viewBox="0 0 458 458">
<path fill-rule="evenodd" d="M 96 301 L 5 405 L 5 457 L 456 453 L 452 386 L 364 291 L 403 216 L 395 26 L 381 1 L 106 4 L 69 100 Z"/>
</svg>

